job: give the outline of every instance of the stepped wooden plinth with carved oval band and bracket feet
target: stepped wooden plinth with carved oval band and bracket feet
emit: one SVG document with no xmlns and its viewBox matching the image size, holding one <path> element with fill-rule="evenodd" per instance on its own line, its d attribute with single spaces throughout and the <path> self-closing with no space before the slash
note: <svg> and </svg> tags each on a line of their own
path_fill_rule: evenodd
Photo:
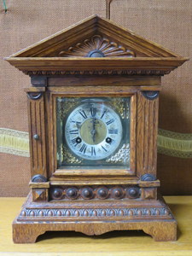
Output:
<svg viewBox="0 0 192 256">
<path fill-rule="evenodd" d="M 164 201 L 32 202 L 29 195 L 13 223 L 15 243 L 33 243 L 45 231 L 88 236 L 112 230 L 143 230 L 155 241 L 177 240 L 177 223 Z"/>
</svg>

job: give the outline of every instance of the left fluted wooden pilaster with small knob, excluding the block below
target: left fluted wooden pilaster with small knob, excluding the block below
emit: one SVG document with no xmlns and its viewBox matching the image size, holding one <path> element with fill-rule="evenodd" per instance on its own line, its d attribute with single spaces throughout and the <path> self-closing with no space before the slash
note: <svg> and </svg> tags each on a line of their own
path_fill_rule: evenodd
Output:
<svg viewBox="0 0 192 256">
<path fill-rule="evenodd" d="M 32 179 L 48 178 L 44 87 L 27 88 L 27 109 Z"/>
</svg>

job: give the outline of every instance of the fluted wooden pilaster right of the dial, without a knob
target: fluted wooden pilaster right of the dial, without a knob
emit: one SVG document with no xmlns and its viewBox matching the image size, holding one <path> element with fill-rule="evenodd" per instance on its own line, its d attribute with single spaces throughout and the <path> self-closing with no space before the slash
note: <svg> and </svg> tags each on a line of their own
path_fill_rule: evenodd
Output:
<svg viewBox="0 0 192 256">
<path fill-rule="evenodd" d="M 158 112 L 159 91 L 138 91 L 137 177 L 148 181 L 156 179 Z"/>
</svg>

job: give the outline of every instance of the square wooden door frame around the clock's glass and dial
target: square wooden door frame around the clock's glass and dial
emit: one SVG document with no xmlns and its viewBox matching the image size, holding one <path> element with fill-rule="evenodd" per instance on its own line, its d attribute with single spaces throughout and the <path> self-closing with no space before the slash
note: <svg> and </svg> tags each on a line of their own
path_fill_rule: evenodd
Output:
<svg viewBox="0 0 192 256">
<path fill-rule="evenodd" d="M 62 97 L 131 97 L 131 126 L 130 126 L 130 150 L 131 160 L 130 169 L 84 169 L 75 168 L 67 169 L 57 168 L 56 159 L 56 106 L 55 99 L 57 96 Z M 49 87 L 49 177 L 51 179 L 63 178 L 63 177 L 137 177 L 136 173 L 136 140 L 137 140 L 137 88 L 130 88 L 130 86 L 63 86 L 61 87 Z"/>
</svg>

